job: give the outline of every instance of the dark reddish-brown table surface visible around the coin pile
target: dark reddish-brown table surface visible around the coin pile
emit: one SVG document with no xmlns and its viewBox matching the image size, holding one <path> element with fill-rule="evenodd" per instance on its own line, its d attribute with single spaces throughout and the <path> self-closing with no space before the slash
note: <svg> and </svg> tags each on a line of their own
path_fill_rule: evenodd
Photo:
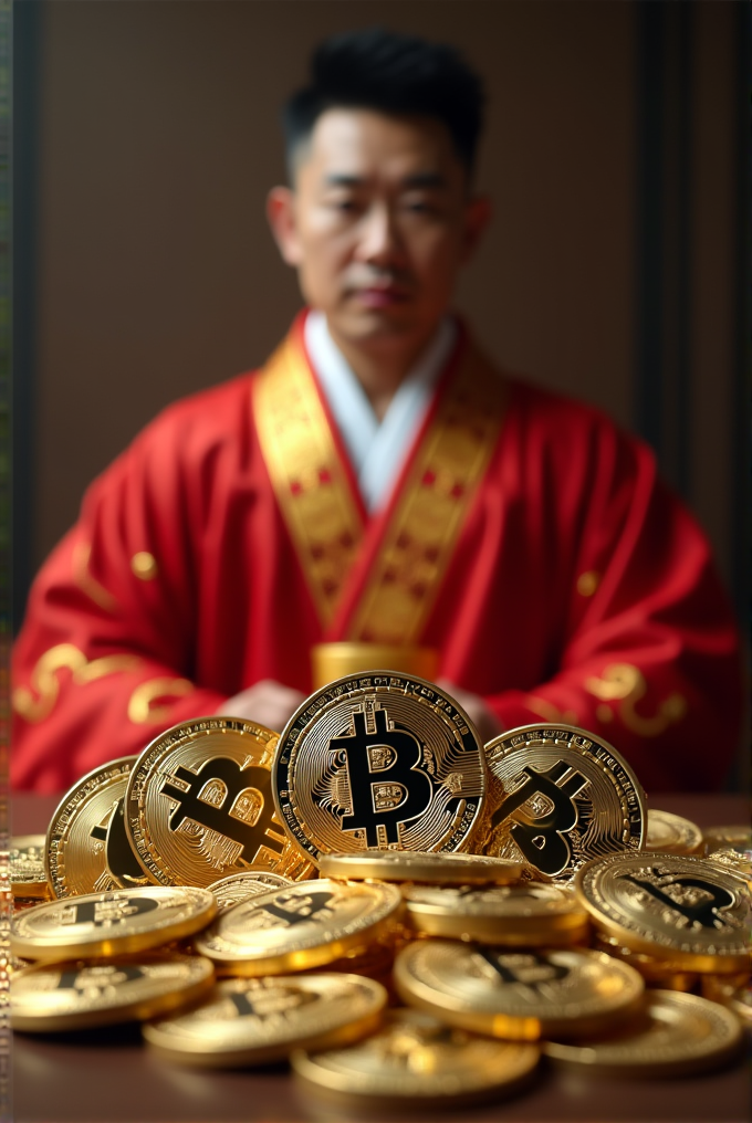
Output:
<svg viewBox="0 0 752 1123">
<path fill-rule="evenodd" d="M 53 797 L 13 801 L 16 834 L 46 829 Z M 741 796 L 660 796 L 653 803 L 700 827 L 749 821 Z M 309 1123 L 356 1120 L 299 1096 L 286 1066 L 211 1072 L 171 1067 L 142 1044 L 138 1028 L 33 1037 L 13 1042 L 15 1123 Z M 683 1079 L 587 1080 L 542 1066 L 514 1099 L 460 1112 L 389 1112 L 390 1123 L 748 1123 L 750 1052 L 731 1068 Z M 371 1116 L 373 1119 L 373 1116 Z"/>
</svg>

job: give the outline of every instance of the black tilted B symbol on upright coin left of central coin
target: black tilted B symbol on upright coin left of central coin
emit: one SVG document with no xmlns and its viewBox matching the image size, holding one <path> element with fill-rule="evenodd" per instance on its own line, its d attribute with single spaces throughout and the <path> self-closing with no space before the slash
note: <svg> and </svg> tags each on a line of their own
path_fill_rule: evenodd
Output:
<svg viewBox="0 0 752 1123">
<path fill-rule="evenodd" d="M 207 830 L 237 842 L 242 847 L 239 857 L 248 864 L 254 861 L 262 846 L 278 855 L 284 850 L 284 841 L 271 834 L 274 806 L 263 794 L 269 788 L 269 773 L 263 768 L 245 768 L 241 772 L 241 766 L 235 760 L 219 757 L 206 760 L 198 773 L 179 765 L 174 779 L 187 784 L 188 791 L 170 783 L 162 787 L 162 794 L 176 800 L 179 804 L 170 815 L 171 830 L 176 831 L 183 820 L 192 819 Z M 217 803 L 208 803 L 206 798 L 201 798 L 201 793 L 211 782 L 219 793 Z M 237 818 L 238 813 L 245 813 L 243 803 L 248 788 L 261 797 L 261 807 L 253 823 Z"/>
</svg>

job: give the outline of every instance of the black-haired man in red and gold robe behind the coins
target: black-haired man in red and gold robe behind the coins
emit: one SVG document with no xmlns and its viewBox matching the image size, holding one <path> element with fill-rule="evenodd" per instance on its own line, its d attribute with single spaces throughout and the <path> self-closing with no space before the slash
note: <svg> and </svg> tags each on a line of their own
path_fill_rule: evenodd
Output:
<svg viewBox="0 0 752 1123">
<path fill-rule="evenodd" d="M 450 314 L 489 218 L 482 90 L 450 48 L 324 44 L 269 218 L 308 304 L 92 485 L 16 651 L 13 778 L 58 791 L 220 712 L 281 729 L 321 640 L 422 645 L 486 739 L 585 725 L 651 789 L 736 745 L 735 630 L 653 457 L 505 377 Z"/>
</svg>

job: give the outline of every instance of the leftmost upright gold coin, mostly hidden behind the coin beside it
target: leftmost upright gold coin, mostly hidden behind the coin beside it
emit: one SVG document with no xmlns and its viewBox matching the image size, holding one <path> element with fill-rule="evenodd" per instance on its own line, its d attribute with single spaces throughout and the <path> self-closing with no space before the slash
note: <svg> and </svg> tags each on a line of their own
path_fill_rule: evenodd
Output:
<svg viewBox="0 0 752 1123">
<path fill-rule="evenodd" d="M 61 800 L 47 828 L 45 868 L 56 897 L 121 888 L 115 869 L 141 874 L 125 831 L 110 831 L 136 757 L 110 760 L 83 776 Z"/>
</svg>

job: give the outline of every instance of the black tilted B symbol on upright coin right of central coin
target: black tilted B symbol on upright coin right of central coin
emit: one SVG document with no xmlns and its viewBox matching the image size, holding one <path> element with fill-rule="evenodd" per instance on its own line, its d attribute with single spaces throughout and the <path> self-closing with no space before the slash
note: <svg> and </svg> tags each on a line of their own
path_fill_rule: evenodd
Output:
<svg viewBox="0 0 752 1123">
<path fill-rule="evenodd" d="M 559 783 L 567 773 L 570 775 Z M 505 819 L 534 795 L 543 795 L 553 807 L 537 815 L 532 823 L 513 823 L 509 833 L 532 866 L 553 877 L 567 869 L 572 851 L 564 831 L 571 831 L 578 820 L 574 796 L 588 783 L 578 772 L 570 772 L 569 765 L 558 760 L 547 772 L 538 773 L 529 766 L 523 768 L 527 777 L 519 787 L 508 795 L 493 813 L 491 827 L 498 827 Z"/>
</svg>

